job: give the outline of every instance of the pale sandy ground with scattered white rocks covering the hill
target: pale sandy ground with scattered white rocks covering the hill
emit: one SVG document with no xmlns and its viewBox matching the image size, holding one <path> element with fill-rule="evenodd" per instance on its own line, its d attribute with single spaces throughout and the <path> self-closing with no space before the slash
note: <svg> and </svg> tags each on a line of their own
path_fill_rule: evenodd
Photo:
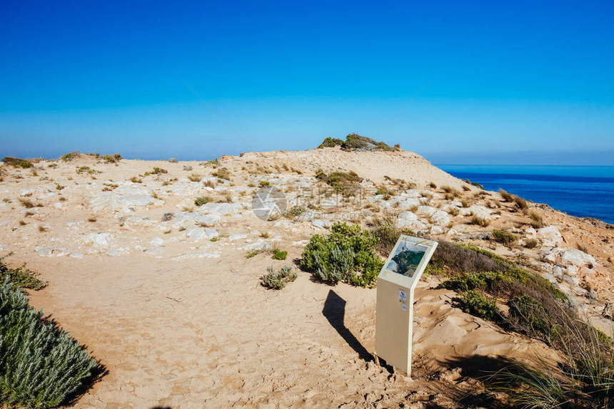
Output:
<svg viewBox="0 0 614 409">
<path fill-rule="evenodd" d="M 500 364 L 496 356 L 553 358 L 543 344 L 454 308 L 454 293 L 437 289 L 437 279 L 426 277 L 416 291 L 410 379 L 372 362 L 376 290 L 327 286 L 302 271 L 281 291 L 260 285 L 267 266 L 298 259 L 306 240 L 326 229 L 309 220 L 255 217 L 250 200 L 259 180 L 289 189 L 315 184 L 313 173 L 323 168 L 354 170 L 376 183 L 385 182 L 386 175 L 419 188 L 430 182 L 463 185 L 412 152 L 248 153 L 224 157 L 217 169 L 198 162 L 114 165 L 91 157 L 50 164 L 36 165 L 36 176 L 4 168 L 0 250 L 15 252 L 7 263 L 28 262 L 49 282 L 32 292 L 32 304 L 86 344 L 108 371 L 76 401 L 77 408 L 453 408 L 463 399 L 488 407 L 488 401 L 468 396 L 480 389 L 475 376 Z M 101 173 L 77 174 L 81 166 Z M 154 167 L 168 173 L 139 176 Z M 211 177 L 220 167 L 231 171 L 231 182 L 205 187 L 205 179 L 187 179 Z M 131 177 L 141 182 L 130 182 Z M 215 190 L 219 187 L 224 189 Z M 212 214 L 193 207 L 198 195 L 221 198 L 226 192 L 233 197 L 232 210 L 208 226 L 223 236 L 218 241 L 188 237 L 182 227 L 193 227 L 191 219 L 185 222 L 190 225 L 173 226 L 185 214 Z M 122 195 L 138 198 L 118 202 Z M 44 206 L 26 209 L 20 197 Z M 598 321 L 611 294 L 612 230 L 540 211 L 560 226 L 566 242 L 586 242 L 598 259 L 595 269 L 603 279 L 598 299 L 574 295 Z M 178 213 L 161 222 L 165 212 Z M 519 219 L 504 207 L 503 217 L 488 229 L 517 226 Z M 463 220 L 458 216 L 449 227 L 462 227 L 469 235 L 480 231 Z M 101 233 L 109 236 L 96 242 Z M 593 242 L 587 242 L 589 233 Z M 249 246 L 263 242 L 288 250 L 288 260 L 272 260 L 266 252 L 246 258 Z M 512 256 L 525 252 L 494 248 Z"/>
</svg>

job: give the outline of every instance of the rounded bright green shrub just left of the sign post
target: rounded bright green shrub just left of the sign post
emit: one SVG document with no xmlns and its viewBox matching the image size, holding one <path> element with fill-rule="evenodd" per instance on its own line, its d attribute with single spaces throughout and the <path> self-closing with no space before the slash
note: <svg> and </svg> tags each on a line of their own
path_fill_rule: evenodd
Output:
<svg viewBox="0 0 614 409">
<path fill-rule="evenodd" d="M 328 236 L 311 237 L 303 249 L 301 266 L 328 284 L 344 281 L 373 287 L 383 266 L 375 252 L 377 244 L 378 238 L 360 226 L 335 223 Z"/>
</svg>

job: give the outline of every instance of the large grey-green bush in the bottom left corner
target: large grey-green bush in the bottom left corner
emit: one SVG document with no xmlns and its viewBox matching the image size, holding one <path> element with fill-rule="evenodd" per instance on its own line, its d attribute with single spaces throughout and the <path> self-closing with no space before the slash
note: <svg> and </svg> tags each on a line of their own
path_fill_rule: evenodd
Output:
<svg viewBox="0 0 614 409">
<path fill-rule="evenodd" d="M 0 285 L 0 402 L 29 408 L 64 403 L 84 385 L 97 363 L 79 342 L 6 279 Z"/>
</svg>

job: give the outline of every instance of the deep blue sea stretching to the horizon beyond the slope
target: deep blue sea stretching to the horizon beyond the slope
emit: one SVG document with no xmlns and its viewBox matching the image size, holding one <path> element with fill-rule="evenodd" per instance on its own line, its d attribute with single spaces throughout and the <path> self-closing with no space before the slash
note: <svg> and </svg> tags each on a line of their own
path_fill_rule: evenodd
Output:
<svg viewBox="0 0 614 409">
<path fill-rule="evenodd" d="M 486 190 L 507 190 L 574 216 L 614 224 L 614 166 L 437 166 Z"/>
</svg>

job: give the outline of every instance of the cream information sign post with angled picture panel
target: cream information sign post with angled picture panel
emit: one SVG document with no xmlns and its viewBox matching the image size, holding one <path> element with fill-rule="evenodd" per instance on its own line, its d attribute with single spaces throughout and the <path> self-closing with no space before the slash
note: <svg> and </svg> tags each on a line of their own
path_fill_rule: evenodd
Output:
<svg viewBox="0 0 614 409">
<path fill-rule="evenodd" d="M 379 358 L 411 376 L 413 289 L 437 242 L 401 236 L 378 275 L 376 363 Z"/>
</svg>

